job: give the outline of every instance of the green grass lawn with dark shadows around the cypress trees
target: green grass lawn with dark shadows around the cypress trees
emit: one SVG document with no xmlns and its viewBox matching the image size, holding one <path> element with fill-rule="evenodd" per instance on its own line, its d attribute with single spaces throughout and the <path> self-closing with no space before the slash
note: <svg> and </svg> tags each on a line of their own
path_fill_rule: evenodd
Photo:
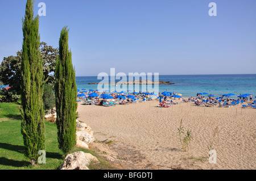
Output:
<svg viewBox="0 0 256 181">
<path fill-rule="evenodd" d="M 17 103 L 0 103 L 0 170 L 55 170 L 64 162 L 64 155 L 58 148 L 56 124 L 46 122 L 46 164 L 31 166 L 23 154 L 23 137 L 20 132 L 20 111 Z M 75 148 L 97 157 L 94 151 Z M 89 169 L 109 169 L 108 162 L 98 158 L 100 163 Z"/>
</svg>

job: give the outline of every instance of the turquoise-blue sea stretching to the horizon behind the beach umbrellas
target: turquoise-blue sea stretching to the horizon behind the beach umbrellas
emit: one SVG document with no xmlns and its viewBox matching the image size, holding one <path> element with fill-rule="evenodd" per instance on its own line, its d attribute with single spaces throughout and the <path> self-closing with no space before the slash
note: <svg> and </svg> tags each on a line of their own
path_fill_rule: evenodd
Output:
<svg viewBox="0 0 256 181">
<path fill-rule="evenodd" d="M 154 81 L 154 76 L 152 80 Z M 97 76 L 76 77 L 77 89 L 96 90 L 98 85 L 88 85 L 88 83 L 100 81 L 101 79 L 98 80 Z M 119 82 L 120 80 L 116 79 L 115 81 Z M 200 92 L 208 92 L 216 96 L 230 93 L 236 94 L 231 98 L 237 98 L 240 94 L 252 94 L 253 98 L 256 96 L 256 74 L 159 75 L 159 81 L 175 83 L 174 85 L 159 85 L 159 92 L 177 92 L 182 94 L 183 97 L 195 97 Z M 148 89 L 148 91 L 151 92 L 152 90 Z M 158 94 L 158 92 L 155 92 L 155 94 Z"/>
</svg>

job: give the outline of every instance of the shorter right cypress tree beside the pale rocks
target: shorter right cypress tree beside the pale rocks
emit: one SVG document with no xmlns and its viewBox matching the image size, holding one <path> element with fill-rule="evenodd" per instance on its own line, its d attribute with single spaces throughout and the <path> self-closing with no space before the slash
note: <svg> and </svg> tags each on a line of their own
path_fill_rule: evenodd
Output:
<svg viewBox="0 0 256 181">
<path fill-rule="evenodd" d="M 55 70 L 56 125 L 59 148 L 66 155 L 76 145 L 77 86 L 72 54 L 68 49 L 68 30 L 60 33 L 59 56 Z"/>
</svg>

